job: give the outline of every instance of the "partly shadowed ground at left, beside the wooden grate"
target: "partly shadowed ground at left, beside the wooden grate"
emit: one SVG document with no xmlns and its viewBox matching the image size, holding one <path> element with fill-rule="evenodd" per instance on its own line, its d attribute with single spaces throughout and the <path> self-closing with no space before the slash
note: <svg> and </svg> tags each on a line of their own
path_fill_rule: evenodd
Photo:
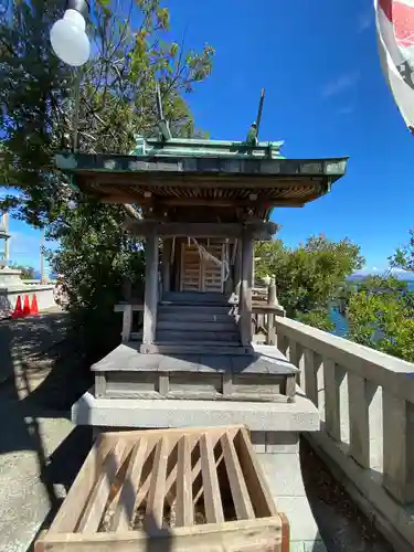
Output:
<svg viewBox="0 0 414 552">
<path fill-rule="evenodd" d="M 91 448 L 70 410 L 91 375 L 70 336 L 70 317 L 0 322 L 0 549 L 24 551 L 55 514 Z M 52 454 L 51 454 L 52 453 Z M 21 519 L 20 519 L 21 518 Z"/>
</svg>

